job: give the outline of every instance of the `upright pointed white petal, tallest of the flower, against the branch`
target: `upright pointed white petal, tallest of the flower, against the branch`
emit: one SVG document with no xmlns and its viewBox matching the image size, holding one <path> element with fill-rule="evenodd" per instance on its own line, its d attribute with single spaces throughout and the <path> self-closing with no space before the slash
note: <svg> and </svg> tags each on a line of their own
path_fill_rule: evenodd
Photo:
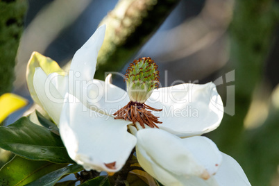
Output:
<svg viewBox="0 0 279 186">
<path fill-rule="evenodd" d="M 83 47 L 76 51 L 70 67 L 70 70 L 74 71 L 74 80 L 90 81 L 93 79 L 98 52 L 103 44 L 104 37 L 105 25 L 97 28 L 89 40 L 83 44 Z"/>
</svg>

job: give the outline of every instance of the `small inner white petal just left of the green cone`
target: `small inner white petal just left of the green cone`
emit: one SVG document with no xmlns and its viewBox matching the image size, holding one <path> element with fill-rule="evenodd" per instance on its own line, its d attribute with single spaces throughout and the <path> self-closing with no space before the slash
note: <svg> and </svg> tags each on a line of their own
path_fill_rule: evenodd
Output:
<svg viewBox="0 0 279 186">
<path fill-rule="evenodd" d="M 104 81 L 94 79 L 87 87 L 87 98 L 83 100 L 92 110 L 112 115 L 129 103 L 130 99 L 125 90 L 110 83 L 111 74 Z"/>
</svg>

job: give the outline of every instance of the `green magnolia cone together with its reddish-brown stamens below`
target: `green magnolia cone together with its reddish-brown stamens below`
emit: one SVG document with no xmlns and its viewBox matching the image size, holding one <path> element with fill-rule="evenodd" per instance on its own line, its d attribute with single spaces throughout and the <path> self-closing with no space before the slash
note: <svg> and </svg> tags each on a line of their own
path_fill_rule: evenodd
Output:
<svg viewBox="0 0 279 186">
<path fill-rule="evenodd" d="M 157 68 L 151 58 L 140 58 L 130 64 L 124 80 L 127 83 L 130 102 L 113 114 L 116 116 L 115 119 L 128 119 L 133 121 L 133 124 L 138 121 L 142 128 L 145 128 L 144 124 L 151 128 L 158 128 L 156 124 L 162 124 L 158 120 L 159 117 L 155 117 L 150 111 L 162 111 L 162 109 L 155 109 L 145 104 L 153 90 L 158 88 L 160 76 Z"/>
</svg>

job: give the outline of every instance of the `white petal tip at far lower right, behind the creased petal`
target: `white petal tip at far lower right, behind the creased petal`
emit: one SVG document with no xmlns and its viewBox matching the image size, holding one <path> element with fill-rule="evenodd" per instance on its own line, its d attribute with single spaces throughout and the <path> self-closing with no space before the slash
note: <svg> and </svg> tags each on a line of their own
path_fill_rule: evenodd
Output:
<svg viewBox="0 0 279 186">
<path fill-rule="evenodd" d="M 246 186 L 251 185 L 246 177 L 242 167 L 229 155 L 222 153 L 223 162 L 217 174 L 214 176 L 214 180 L 218 185 L 226 186 Z"/>
</svg>

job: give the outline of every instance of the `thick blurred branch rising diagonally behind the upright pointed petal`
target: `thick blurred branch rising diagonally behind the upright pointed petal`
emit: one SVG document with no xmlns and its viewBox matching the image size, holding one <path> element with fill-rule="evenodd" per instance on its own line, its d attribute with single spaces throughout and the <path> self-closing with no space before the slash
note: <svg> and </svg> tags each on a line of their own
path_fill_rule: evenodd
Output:
<svg viewBox="0 0 279 186">
<path fill-rule="evenodd" d="M 180 0 L 119 1 L 101 22 L 107 25 L 106 33 L 110 35 L 105 36 L 99 51 L 98 70 L 94 77 L 102 79 L 106 71 L 123 67 L 157 31 L 178 2 Z"/>
</svg>

